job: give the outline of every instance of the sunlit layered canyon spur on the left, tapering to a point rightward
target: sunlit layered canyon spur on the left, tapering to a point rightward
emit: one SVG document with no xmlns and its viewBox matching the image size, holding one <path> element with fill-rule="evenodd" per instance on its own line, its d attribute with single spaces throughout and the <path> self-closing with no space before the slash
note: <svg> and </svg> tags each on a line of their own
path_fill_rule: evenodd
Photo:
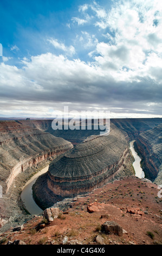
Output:
<svg viewBox="0 0 162 256">
<path fill-rule="evenodd" d="M 27 124 L 0 121 L 0 185 L 3 186 L 3 193 L 9 190 L 20 172 L 72 147 L 63 138 Z"/>
</svg>

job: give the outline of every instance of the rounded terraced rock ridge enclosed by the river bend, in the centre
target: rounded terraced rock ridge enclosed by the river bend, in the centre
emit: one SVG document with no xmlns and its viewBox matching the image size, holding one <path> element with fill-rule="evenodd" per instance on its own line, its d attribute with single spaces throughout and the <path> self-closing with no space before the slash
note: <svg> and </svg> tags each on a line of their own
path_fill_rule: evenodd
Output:
<svg viewBox="0 0 162 256">
<path fill-rule="evenodd" d="M 113 124 L 108 136 L 91 139 L 54 160 L 33 186 L 34 198 L 45 209 L 58 200 L 93 191 L 117 176 L 134 174 L 125 135 Z"/>
</svg>

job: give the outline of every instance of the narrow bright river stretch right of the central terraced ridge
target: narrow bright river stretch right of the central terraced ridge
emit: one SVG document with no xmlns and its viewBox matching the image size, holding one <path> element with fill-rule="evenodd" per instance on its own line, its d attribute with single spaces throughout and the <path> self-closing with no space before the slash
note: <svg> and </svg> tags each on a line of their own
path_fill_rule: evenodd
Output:
<svg viewBox="0 0 162 256">
<path fill-rule="evenodd" d="M 131 141 L 130 142 L 130 149 L 131 149 L 131 152 L 132 152 L 132 155 L 134 157 L 134 162 L 133 162 L 133 167 L 134 167 L 134 170 L 135 170 L 135 176 L 137 176 L 138 178 L 145 178 L 145 173 L 144 171 L 142 170 L 141 166 L 140 166 L 140 157 L 138 156 L 137 152 L 135 152 L 134 150 L 134 142 L 135 141 Z"/>
</svg>

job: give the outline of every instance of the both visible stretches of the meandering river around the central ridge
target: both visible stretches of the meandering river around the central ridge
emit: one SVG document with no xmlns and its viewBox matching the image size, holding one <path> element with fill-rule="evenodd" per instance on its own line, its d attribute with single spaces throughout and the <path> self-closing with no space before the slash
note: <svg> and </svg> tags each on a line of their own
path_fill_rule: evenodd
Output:
<svg viewBox="0 0 162 256">
<path fill-rule="evenodd" d="M 134 150 L 134 142 L 132 141 L 130 143 L 130 149 L 132 151 L 132 155 L 134 157 L 134 162 L 133 162 L 133 167 L 135 170 L 135 176 L 138 178 L 144 178 L 145 173 L 143 172 L 142 168 L 140 167 L 140 157 Z M 21 199 L 23 201 L 23 204 L 25 206 L 25 209 L 27 209 L 30 214 L 41 214 L 43 210 L 38 207 L 38 205 L 35 203 L 33 199 L 33 191 L 32 191 L 32 186 L 34 185 L 36 179 L 38 176 L 42 175 L 43 173 L 46 173 L 48 171 L 49 166 L 43 168 L 40 170 L 40 172 L 36 173 L 28 182 L 25 184 L 25 186 L 22 188 L 22 193 L 21 193 Z"/>
</svg>

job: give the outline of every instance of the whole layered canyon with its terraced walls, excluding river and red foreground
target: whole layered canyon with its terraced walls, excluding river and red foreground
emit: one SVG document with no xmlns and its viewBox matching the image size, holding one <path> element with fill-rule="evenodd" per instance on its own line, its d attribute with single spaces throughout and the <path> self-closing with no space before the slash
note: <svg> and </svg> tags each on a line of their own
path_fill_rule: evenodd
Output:
<svg viewBox="0 0 162 256">
<path fill-rule="evenodd" d="M 52 120 L 0 121 L 0 225 L 9 228 L 29 218 L 21 191 L 32 175 L 49 164 L 33 186 L 45 209 L 64 198 L 96 190 L 134 175 L 129 142 L 141 157 L 145 177 L 157 185 L 161 175 L 161 118 L 111 119 L 108 136 L 99 130 L 53 130 Z"/>
</svg>

